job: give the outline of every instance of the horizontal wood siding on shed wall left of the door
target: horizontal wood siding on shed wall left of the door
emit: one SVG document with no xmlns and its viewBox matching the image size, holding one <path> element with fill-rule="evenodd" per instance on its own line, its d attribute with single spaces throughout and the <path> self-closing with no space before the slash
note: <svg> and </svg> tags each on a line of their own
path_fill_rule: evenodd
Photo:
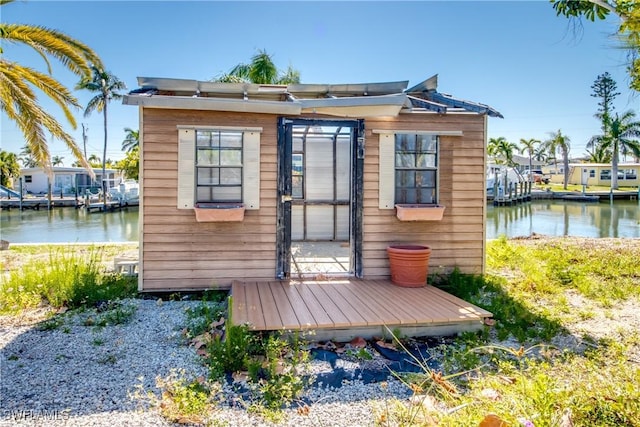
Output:
<svg viewBox="0 0 640 427">
<path fill-rule="evenodd" d="M 262 127 L 260 209 L 243 222 L 198 223 L 176 208 L 178 125 Z M 264 114 L 144 109 L 144 290 L 228 288 L 275 275 L 276 118 Z"/>
</svg>

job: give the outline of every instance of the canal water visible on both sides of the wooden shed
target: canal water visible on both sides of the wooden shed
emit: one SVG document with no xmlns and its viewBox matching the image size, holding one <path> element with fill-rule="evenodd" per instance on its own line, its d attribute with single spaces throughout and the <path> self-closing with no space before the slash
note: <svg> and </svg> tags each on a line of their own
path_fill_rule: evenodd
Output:
<svg viewBox="0 0 640 427">
<path fill-rule="evenodd" d="M 446 215 L 446 214 L 445 214 Z M 637 201 L 580 203 L 534 200 L 487 209 L 487 239 L 501 235 L 640 238 Z M 87 213 L 84 209 L 0 211 L 0 238 L 13 243 L 135 242 L 138 209 Z"/>
</svg>

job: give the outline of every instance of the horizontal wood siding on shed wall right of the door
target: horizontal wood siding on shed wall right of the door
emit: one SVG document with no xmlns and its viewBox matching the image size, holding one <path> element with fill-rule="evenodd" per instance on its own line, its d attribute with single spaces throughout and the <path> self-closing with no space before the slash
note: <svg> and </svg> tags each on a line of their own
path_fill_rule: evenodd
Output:
<svg viewBox="0 0 640 427">
<path fill-rule="evenodd" d="M 480 273 L 484 265 L 485 129 L 484 117 L 472 114 L 401 114 L 395 121 L 368 119 L 364 183 L 363 271 L 367 278 L 389 277 L 386 248 L 413 243 L 431 247 L 429 272 Z M 441 221 L 402 222 L 395 209 L 378 207 L 376 130 L 453 130 L 463 136 L 440 136 Z"/>
</svg>

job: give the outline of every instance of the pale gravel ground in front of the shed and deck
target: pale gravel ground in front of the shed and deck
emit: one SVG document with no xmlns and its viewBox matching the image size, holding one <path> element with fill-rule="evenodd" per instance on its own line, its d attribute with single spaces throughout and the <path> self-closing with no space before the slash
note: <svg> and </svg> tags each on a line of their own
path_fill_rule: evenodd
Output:
<svg viewBox="0 0 640 427">
<path fill-rule="evenodd" d="M 148 400 L 134 394 L 140 387 L 159 394 L 156 377 L 167 377 L 172 370 L 184 370 L 190 379 L 206 376 L 181 334 L 185 309 L 199 302 L 131 299 L 124 304 L 135 314 L 117 326 L 87 326 L 87 319 L 95 317 L 90 311 L 59 315 L 64 322 L 52 330 L 35 321 L 0 317 L 0 426 L 170 425 Z M 317 368 L 323 369 L 322 364 Z M 371 426 L 376 405 L 390 396 L 408 395 L 394 380 L 386 387 L 351 381 L 335 390 L 312 388 L 306 396 L 308 412 L 287 410 L 282 425 Z M 270 425 L 228 405 L 210 421 Z"/>
</svg>

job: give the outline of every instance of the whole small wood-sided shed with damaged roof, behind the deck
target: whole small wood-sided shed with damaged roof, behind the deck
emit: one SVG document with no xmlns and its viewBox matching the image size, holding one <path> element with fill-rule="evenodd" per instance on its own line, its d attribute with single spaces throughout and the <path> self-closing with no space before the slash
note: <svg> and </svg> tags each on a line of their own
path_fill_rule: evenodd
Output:
<svg viewBox="0 0 640 427">
<path fill-rule="evenodd" d="M 390 244 L 428 245 L 431 271 L 483 271 L 487 117 L 502 116 L 436 76 L 138 84 L 141 290 L 388 279 Z M 403 221 L 400 204 L 445 211 Z"/>
</svg>

